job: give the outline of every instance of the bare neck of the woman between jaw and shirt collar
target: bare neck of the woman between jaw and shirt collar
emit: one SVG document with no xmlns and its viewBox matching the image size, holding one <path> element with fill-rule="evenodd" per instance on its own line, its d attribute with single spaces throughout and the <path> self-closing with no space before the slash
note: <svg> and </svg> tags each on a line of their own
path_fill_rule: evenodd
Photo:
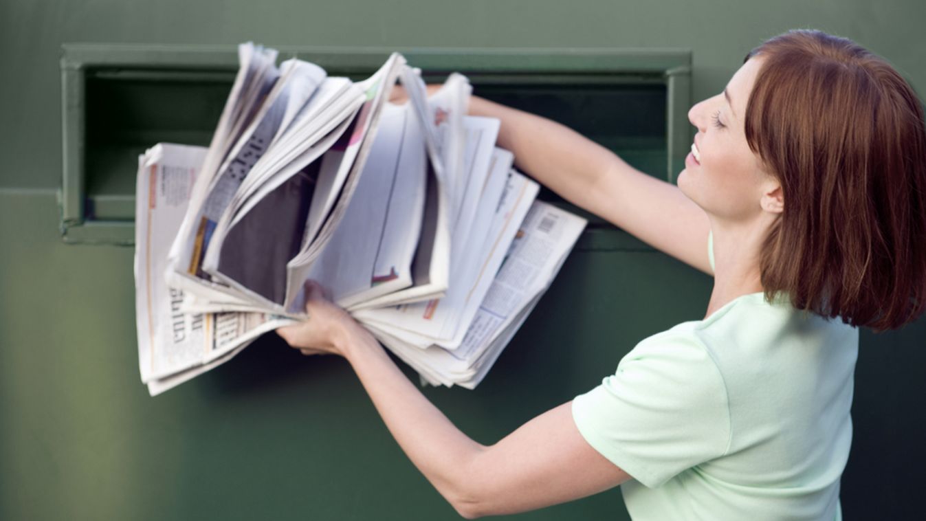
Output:
<svg viewBox="0 0 926 521">
<path fill-rule="evenodd" d="M 711 219 L 714 289 L 705 318 L 737 297 L 764 291 L 759 254 L 771 224 L 771 221 L 759 220 L 731 225 Z"/>
</svg>

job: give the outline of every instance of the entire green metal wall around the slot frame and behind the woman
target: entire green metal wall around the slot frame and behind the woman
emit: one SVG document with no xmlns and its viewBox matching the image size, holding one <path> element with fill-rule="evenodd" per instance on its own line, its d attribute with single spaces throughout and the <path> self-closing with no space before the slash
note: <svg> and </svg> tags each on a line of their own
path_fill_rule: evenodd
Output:
<svg viewBox="0 0 926 521">
<path fill-rule="evenodd" d="M 3 0 L 0 519 L 456 517 L 342 361 L 303 358 L 269 336 L 147 396 L 131 248 L 60 240 L 61 43 L 687 47 L 698 100 L 719 92 L 754 45 L 795 27 L 857 40 L 926 93 L 924 19 L 920 0 Z M 606 243 L 582 239 L 477 391 L 427 391 L 459 427 L 494 441 L 594 386 L 636 341 L 703 317 L 707 277 L 636 242 Z M 862 334 L 846 519 L 918 517 L 923 343 L 923 319 Z M 626 513 L 611 490 L 519 518 Z"/>
</svg>

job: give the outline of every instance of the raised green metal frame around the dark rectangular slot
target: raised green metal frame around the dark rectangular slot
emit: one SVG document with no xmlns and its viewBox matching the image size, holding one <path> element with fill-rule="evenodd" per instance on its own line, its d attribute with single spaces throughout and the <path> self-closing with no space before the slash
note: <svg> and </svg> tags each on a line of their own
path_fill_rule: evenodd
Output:
<svg viewBox="0 0 926 521">
<path fill-rule="evenodd" d="M 380 48 L 277 47 L 280 56 L 297 56 L 336 76 L 363 78 L 392 51 Z M 626 85 L 666 86 L 668 161 L 666 180 L 684 165 L 691 140 L 691 51 L 687 49 L 395 49 L 410 64 L 439 78 L 452 71 L 474 85 Z M 104 215 L 132 215 L 134 197 L 86 192 L 86 85 L 106 81 L 207 81 L 233 78 L 238 68 L 234 46 L 65 44 L 61 56 L 63 168 L 60 193 L 61 233 L 65 242 L 132 244 L 131 219 L 96 219 L 88 203 Z M 154 143 L 152 143 L 154 144 Z M 132 175 L 127 173 L 127 175 Z"/>
</svg>

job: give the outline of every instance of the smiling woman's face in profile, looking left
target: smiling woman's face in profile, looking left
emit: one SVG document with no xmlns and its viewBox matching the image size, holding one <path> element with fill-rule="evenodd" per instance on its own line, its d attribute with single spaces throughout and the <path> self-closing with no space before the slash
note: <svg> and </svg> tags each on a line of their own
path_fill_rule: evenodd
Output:
<svg viewBox="0 0 926 521">
<path fill-rule="evenodd" d="M 760 66 L 761 58 L 750 58 L 723 93 L 688 111 L 697 133 L 679 174 L 679 188 L 707 214 L 728 221 L 757 217 L 763 194 L 779 186 L 746 143 L 746 102 Z"/>
</svg>

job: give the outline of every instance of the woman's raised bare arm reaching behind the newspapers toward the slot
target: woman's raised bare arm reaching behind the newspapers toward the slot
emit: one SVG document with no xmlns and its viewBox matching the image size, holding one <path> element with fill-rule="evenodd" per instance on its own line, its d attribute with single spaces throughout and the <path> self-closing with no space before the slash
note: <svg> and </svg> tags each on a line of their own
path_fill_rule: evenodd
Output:
<svg viewBox="0 0 926 521">
<path fill-rule="evenodd" d="M 478 96 L 469 114 L 499 118 L 498 146 L 553 192 L 682 262 L 712 274 L 707 214 L 677 186 L 631 167 L 575 130 Z"/>
</svg>

